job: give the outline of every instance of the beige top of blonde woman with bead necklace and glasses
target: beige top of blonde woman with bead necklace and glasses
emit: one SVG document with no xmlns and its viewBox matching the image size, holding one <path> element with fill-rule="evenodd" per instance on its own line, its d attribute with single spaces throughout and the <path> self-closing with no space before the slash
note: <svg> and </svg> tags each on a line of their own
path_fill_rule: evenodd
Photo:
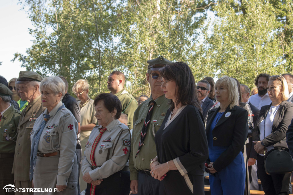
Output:
<svg viewBox="0 0 293 195">
<path fill-rule="evenodd" d="M 79 104 L 81 101 L 78 101 Z M 97 118 L 95 117 L 95 107 L 93 105 L 94 100 L 90 99 L 84 107 L 80 109 L 80 125 L 88 125 L 88 124 L 96 124 Z M 81 146 L 84 147 L 82 143 L 86 143 L 88 141 L 88 136 L 91 134 L 91 130 L 81 131 L 80 132 L 80 140 Z M 85 139 L 85 141 L 83 141 Z"/>
</svg>

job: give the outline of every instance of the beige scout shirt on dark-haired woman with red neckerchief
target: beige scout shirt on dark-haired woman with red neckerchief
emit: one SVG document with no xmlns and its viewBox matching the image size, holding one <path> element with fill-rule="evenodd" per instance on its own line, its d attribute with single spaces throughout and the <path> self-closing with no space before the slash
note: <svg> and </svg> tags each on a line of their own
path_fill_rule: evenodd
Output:
<svg viewBox="0 0 293 195">
<path fill-rule="evenodd" d="M 88 143 L 86 144 L 84 152 L 85 156 L 81 157 L 81 171 L 83 175 L 89 172 L 93 180 L 107 178 L 115 172 L 122 170 L 127 163 L 130 154 L 129 129 L 125 124 L 122 124 L 118 119 L 115 119 L 106 126 L 107 130 L 102 134 L 102 137 L 96 146 L 94 157 L 98 168 L 92 170 L 91 150 L 93 142 L 100 133 L 100 128 L 102 128 L 100 125 L 93 128 Z M 99 150 L 101 150 L 102 153 L 100 153 Z M 110 150 L 110 156 L 109 160 L 106 162 L 108 150 Z"/>
</svg>

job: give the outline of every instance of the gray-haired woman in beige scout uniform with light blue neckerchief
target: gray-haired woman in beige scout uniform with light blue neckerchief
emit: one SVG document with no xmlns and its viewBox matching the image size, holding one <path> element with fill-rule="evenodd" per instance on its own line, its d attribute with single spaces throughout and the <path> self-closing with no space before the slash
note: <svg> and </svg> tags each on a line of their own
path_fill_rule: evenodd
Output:
<svg viewBox="0 0 293 195">
<path fill-rule="evenodd" d="M 42 106 L 47 109 L 36 120 L 30 136 L 30 180 L 34 188 L 51 188 L 53 192 L 34 194 L 57 194 L 54 188 L 61 194 L 77 194 L 78 123 L 61 102 L 65 84 L 59 77 L 47 77 L 40 90 Z"/>
</svg>

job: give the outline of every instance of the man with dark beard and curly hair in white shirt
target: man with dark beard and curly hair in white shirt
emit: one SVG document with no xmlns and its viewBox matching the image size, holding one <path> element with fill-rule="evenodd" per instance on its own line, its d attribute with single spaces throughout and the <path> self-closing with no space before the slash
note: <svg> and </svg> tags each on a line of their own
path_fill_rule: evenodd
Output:
<svg viewBox="0 0 293 195">
<path fill-rule="evenodd" d="M 255 79 L 255 85 L 257 86 L 258 94 L 252 95 L 249 98 L 249 102 L 251 102 L 251 104 L 257 107 L 259 110 L 262 106 L 269 105 L 272 102 L 267 93 L 269 78 L 270 75 L 268 74 L 259 74 Z"/>
</svg>

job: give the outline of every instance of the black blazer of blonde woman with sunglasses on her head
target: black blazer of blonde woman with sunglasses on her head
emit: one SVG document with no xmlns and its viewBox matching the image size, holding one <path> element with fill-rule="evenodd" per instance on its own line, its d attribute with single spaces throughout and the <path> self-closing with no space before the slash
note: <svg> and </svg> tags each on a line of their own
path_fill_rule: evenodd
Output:
<svg viewBox="0 0 293 195">
<path fill-rule="evenodd" d="M 260 140 L 259 138 L 260 131 L 258 125 L 267 116 L 271 105 L 272 103 L 261 107 L 252 132 L 252 139 L 253 141 L 263 141 L 265 147 L 273 145 L 274 148 L 288 148 L 286 143 L 286 131 L 288 130 L 293 115 L 293 104 L 290 102 L 282 101 L 273 121 L 272 133 L 266 136 L 263 140 Z"/>
</svg>

